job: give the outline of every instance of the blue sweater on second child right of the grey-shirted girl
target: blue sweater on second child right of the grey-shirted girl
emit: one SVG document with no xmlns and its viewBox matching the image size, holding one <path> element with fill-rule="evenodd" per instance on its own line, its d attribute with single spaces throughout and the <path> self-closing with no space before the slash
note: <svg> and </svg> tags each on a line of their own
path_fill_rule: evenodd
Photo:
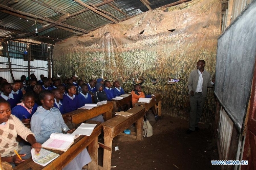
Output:
<svg viewBox="0 0 256 170">
<path fill-rule="evenodd" d="M 70 99 L 69 94 L 63 95 L 62 104 L 66 113 L 74 111 L 78 108 L 78 97 L 74 95 L 74 99 Z"/>
</svg>

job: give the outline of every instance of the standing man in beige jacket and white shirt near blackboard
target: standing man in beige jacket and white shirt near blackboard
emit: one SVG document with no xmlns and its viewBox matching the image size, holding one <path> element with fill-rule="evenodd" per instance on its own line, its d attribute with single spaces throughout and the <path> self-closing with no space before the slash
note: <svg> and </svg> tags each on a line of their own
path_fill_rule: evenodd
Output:
<svg viewBox="0 0 256 170">
<path fill-rule="evenodd" d="M 203 113 L 204 101 L 207 95 L 207 87 L 212 87 L 214 80 L 211 81 L 209 72 L 204 70 L 205 61 L 197 62 L 197 69 L 192 71 L 188 77 L 188 93 L 190 95 L 189 128 L 186 133 L 199 130 L 198 123 Z"/>
</svg>

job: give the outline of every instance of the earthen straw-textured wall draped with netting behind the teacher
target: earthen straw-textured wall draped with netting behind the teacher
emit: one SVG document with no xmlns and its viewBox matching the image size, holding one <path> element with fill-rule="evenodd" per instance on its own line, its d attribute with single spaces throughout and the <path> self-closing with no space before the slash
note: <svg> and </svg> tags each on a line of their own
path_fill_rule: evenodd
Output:
<svg viewBox="0 0 256 170">
<path fill-rule="evenodd" d="M 214 75 L 220 27 L 221 4 L 217 0 L 145 12 L 56 43 L 54 72 L 67 77 L 76 73 L 86 82 L 92 75 L 103 75 L 111 81 L 122 77 L 126 91 L 133 89 L 132 78 L 144 78 L 145 93 L 162 94 L 164 113 L 188 118 L 188 75 L 199 59 L 206 61 L 205 69 Z M 175 31 L 168 31 L 172 29 Z M 170 85 L 168 77 L 180 81 Z M 153 85 L 153 78 L 160 81 Z M 214 112 L 215 99 L 209 89 L 202 121 L 211 122 Z"/>
</svg>

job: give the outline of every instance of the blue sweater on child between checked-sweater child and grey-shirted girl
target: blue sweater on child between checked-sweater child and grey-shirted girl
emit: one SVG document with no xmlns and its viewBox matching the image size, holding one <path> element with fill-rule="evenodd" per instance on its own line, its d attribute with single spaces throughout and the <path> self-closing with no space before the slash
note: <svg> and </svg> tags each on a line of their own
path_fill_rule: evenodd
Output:
<svg viewBox="0 0 256 170">
<path fill-rule="evenodd" d="M 31 118 L 32 115 L 35 113 L 38 105 L 35 103 L 34 106 L 32 107 L 32 112 L 31 114 L 28 112 L 26 108 L 23 106 L 17 105 L 12 109 L 12 114 L 20 119 L 20 121 L 24 118 Z"/>
</svg>

